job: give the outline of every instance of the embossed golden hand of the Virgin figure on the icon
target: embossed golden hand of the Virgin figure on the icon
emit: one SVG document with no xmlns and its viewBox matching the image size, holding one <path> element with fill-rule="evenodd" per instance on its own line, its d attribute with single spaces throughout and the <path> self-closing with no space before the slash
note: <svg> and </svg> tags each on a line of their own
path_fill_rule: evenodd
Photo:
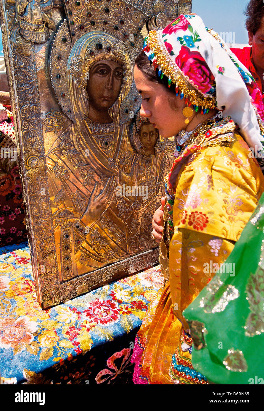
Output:
<svg viewBox="0 0 264 411">
<path fill-rule="evenodd" d="M 116 176 L 109 177 L 100 194 L 96 195 L 98 192 L 98 183 L 96 182 L 90 195 L 86 210 L 81 217 L 81 222 L 86 224 L 86 226 L 92 226 L 109 206 L 113 195 L 115 194 L 115 188 Z"/>
</svg>

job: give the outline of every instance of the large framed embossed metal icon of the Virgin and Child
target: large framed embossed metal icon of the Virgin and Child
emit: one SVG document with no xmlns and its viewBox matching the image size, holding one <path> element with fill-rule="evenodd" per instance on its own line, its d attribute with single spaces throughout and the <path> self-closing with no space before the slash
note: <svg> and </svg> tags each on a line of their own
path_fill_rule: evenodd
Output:
<svg viewBox="0 0 264 411">
<path fill-rule="evenodd" d="M 157 263 L 152 215 L 174 141 L 138 113 L 134 60 L 189 0 L 1 0 L 37 295 L 43 308 Z"/>
</svg>

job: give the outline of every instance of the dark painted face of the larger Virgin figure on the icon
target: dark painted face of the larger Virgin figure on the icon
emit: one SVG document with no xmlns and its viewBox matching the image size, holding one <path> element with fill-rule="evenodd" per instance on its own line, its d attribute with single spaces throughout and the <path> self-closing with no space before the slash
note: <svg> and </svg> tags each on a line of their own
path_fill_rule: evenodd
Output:
<svg viewBox="0 0 264 411">
<path fill-rule="evenodd" d="M 86 90 L 90 105 L 97 111 L 107 111 L 119 96 L 123 80 L 122 66 L 113 60 L 100 60 L 89 72 Z"/>
</svg>

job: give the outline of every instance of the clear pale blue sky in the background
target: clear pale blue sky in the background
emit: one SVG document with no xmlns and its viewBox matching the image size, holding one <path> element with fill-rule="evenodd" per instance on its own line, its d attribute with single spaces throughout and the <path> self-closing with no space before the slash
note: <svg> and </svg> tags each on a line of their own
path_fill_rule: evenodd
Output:
<svg viewBox="0 0 264 411">
<path fill-rule="evenodd" d="M 192 11 L 216 32 L 234 32 L 236 43 L 248 44 L 243 11 L 249 0 L 192 0 Z M 0 34 L 0 56 L 3 54 Z"/>
</svg>

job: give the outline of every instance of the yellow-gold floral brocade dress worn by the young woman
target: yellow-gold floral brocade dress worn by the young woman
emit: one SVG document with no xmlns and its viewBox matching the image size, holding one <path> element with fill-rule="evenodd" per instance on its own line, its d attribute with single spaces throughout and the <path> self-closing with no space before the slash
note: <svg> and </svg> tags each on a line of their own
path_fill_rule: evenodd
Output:
<svg viewBox="0 0 264 411">
<path fill-rule="evenodd" d="M 193 369 L 182 312 L 225 262 L 264 191 L 249 153 L 232 119 L 210 119 L 194 130 L 167 175 L 160 264 L 169 281 L 137 335 L 144 349 L 137 383 L 208 383 Z"/>
</svg>

